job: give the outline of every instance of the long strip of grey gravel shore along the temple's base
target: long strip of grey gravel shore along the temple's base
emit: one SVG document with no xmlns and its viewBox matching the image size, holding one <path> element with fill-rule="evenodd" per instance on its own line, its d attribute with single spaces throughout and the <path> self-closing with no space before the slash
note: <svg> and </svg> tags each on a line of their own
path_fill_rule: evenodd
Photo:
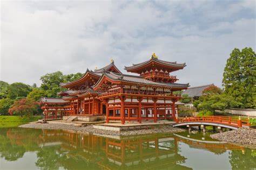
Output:
<svg viewBox="0 0 256 170">
<path fill-rule="evenodd" d="M 112 135 L 112 136 L 133 136 L 138 134 L 153 134 L 153 133 L 177 133 L 183 132 L 184 129 L 173 128 L 172 126 L 163 125 L 159 126 L 159 128 L 154 129 L 142 129 L 142 130 L 132 130 L 132 131 L 108 131 L 108 130 L 100 130 L 94 129 L 92 125 L 77 127 L 74 125 L 66 125 L 66 124 L 41 124 L 41 123 L 29 123 L 19 126 L 20 128 L 32 128 L 32 129 L 66 129 L 66 130 L 74 130 L 85 133 L 94 133 L 94 134 L 104 134 L 104 135 Z"/>
</svg>

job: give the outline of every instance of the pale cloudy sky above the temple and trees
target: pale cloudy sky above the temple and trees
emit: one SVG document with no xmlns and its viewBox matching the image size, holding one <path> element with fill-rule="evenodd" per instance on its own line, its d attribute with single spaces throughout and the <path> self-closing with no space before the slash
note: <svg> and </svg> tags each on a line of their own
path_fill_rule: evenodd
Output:
<svg viewBox="0 0 256 170">
<path fill-rule="evenodd" d="M 0 80 L 41 84 L 58 70 L 186 62 L 178 83 L 221 87 L 234 48 L 255 51 L 255 1 L 1 1 Z"/>
</svg>

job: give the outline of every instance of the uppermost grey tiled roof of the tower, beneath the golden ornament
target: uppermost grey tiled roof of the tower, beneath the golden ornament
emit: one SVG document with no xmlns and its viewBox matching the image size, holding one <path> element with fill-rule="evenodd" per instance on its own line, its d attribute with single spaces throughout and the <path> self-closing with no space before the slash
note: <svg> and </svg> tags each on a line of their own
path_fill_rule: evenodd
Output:
<svg viewBox="0 0 256 170">
<path fill-rule="evenodd" d="M 129 70 L 129 69 L 138 68 L 138 67 L 146 65 L 147 63 L 149 63 L 151 61 L 159 62 L 159 63 L 162 63 L 162 64 L 167 65 L 167 66 L 182 67 L 182 68 L 186 66 L 186 63 L 169 62 L 169 61 L 159 60 L 159 59 L 156 59 L 156 58 L 151 58 L 150 60 L 147 60 L 147 61 L 144 61 L 144 62 L 141 62 L 141 63 L 132 64 L 132 66 L 129 66 L 129 67 L 125 66 L 124 69 Z"/>
</svg>

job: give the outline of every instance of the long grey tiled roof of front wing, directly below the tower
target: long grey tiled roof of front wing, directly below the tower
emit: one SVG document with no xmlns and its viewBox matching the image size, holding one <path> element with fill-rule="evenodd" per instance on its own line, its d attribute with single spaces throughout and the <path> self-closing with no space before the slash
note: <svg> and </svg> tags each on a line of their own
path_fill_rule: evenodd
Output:
<svg viewBox="0 0 256 170">
<path fill-rule="evenodd" d="M 105 72 L 103 73 L 106 77 L 111 80 L 119 80 L 119 81 L 126 81 L 126 82 L 133 82 L 133 83 L 141 83 L 141 84 L 151 84 L 154 86 L 165 86 L 165 87 L 189 87 L 189 83 L 187 84 L 180 84 L 180 83 L 161 83 L 161 82 L 154 82 L 150 80 L 144 79 L 142 76 L 135 76 L 135 75 L 127 75 L 127 74 L 118 74 L 113 72 Z"/>
</svg>

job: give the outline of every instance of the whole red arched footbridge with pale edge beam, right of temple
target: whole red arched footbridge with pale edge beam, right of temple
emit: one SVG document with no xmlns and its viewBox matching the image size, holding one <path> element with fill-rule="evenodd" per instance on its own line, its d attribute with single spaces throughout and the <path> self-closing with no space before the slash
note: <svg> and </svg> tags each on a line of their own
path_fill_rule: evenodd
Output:
<svg viewBox="0 0 256 170">
<path fill-rule="evenodd" d="M 221 128 L 238 129 L 241 127 L 248 127 L 248 119 L 241 119 L 241 117 L 228 116 L 195 116 L 186 117 L 183 119 L 176 119 L 176 124 L 173 127 L 187 126 L 218 126 Z M 205 129 L 204 129 L 205 130 Z"/>
</svg>

